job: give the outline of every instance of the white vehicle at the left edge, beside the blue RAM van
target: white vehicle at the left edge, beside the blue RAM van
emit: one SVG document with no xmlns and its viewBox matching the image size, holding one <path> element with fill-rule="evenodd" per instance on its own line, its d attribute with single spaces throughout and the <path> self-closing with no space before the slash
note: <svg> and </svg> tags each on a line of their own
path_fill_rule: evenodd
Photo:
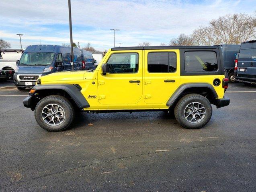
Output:
<svg viewBox="0 0 256 192">
<path fill-rule="evenodd" d="M 0 81 L 12 79 L 23 49 L 0 49 Z"/>
</svg>

